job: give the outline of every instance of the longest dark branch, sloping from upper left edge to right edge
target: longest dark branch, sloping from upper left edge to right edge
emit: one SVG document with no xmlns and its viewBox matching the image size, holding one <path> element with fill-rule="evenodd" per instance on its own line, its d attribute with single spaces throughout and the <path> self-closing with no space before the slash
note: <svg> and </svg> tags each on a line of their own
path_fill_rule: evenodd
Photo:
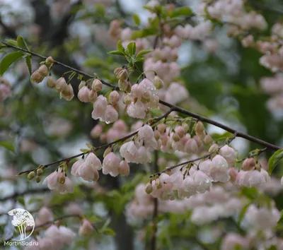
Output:
<svg viewBox="0 0 283 250">
<path fill-rule="evenodd" d="M 28 53 L 28 54 L 32 54 L 33 56 L 37 56 L 37 57 L 39 57 L 39 58 L 41 58 L 41 59 L 47 59 L 47 56 L 42 56 L 41 54 L 37 54 L 37 53 L 35 53 L 35 52 L 30 52 L 30 51 L 28 51 L 28 50 L 26 50 L 26 49 L 22 49 L 22 48 L 20 48 L 20 47 L 13 46 L 12 44 L 8 44 L 8 43 L 6 43 L 6 42 L 2 42 L 2 43 L 5 44 L 7 47 L 11 47 L 11 48 L 13 48 L 13 49 L 21 50 L 22 52 L 25 52 L 25 53 Z M 62 63 L 59 62 L 59 61 L 54 61 L 54 64 L 64 66 L 66 69 L 70 69 L 71 71 L 74 71 L 74 72 L 76 72 L 76 73 L 79 73 L 79 74 L 81 74 L 82 76 L 85 76 L 85 77 L 87 77 L 87 78 L 95 78 L 95 76 L 91 76 L 91 75 L 89 75 L 88 73 L 84 73 L 83 71 L 79 71 L 78 69 L 74 69 L 74 68 L 72 68 L 71 66 L 68 66 L 68 65 L 66 65 L 66 64 L 62 64 Z M 115 86 L 115 85 L 112 85 L 112 84 L 110 84 L 110 83 L 107 83 L 107 82 L 105 82 L 105 81 L 103 81 L 103 80 L 100 80 L 100 81 L 101 81 L 104 85 L 107 85 L 108 87 L 112 88 L 113 90 L 119 90 L 119 88 L 118 88 L 117 86 Z M 226 125 L 224 125 L 224 124 L 221 124 L 221 123 L 218 122 L 218 121 L 214 121 L 214 120 L 212 120 L 212 119 L 208 119 L 208 118 L 206 118 L 206 117 L 202 117 L 200 114 L 195 114 L 195 113 L 193 113 L 193 112 L 187 111 L 186 109 L 183 109 L 183 108 L 178 107 L 178 106 L 176 106 L 176 105 L 171 105 L 170 103 L 165 102 L 165 101 L 163 101 L 163 100 L 159 100 L 159 103 L 161 103 L 162 105 L 165 105 L 166 107 L 171 108 L 172 111 L 180 112 L 180 113 L 182 113 L 182 114 L 186 114 L 186 115 L 189 116 L 189 117 L 194 117 L 194 118 L 196 118 L 196 119 L 198 119 L 198 120 L 200 120 L 200 121 L 206 122 L 207 124 L 212 124 L 212 125 L 217 126 L 217 127 L 221 128 L 221 129 L 224 129 L 224 130 L 226 130 L 226 131 L 228 131 L 228 132 L 230 132 L 230 133 L 236 133 L 236 137 L 245 138 L 246 140 L 252 141 L 253 143 L 257 143 L 257 144 L 259 144 L 259 145 L 263 145 L 263 146 L 265 146 L 266 148 L 268 148 L 268 149 L 270 149 L 270 150 L 279 150 L 279 149 L 281 149 L 281 148 L 280 148 L 279 146 L 277 146 L 277 145 L 273 145 L 273 144 L 268 143 L 268 142 L 266 142 L 266 141 L 262 141 L 262 140 L 260 140 L 260 139 L 258 139 L 258 138 L 255 138 L 255 137 L 253 137 L 253 136 L 250 136 L 250 135 L 248 135 L 248 134 L 246 134 L 246 133 L 238 132 L 238 131 L 236 131 L 235 129 L 232 129 L 232 128 L 229 127 L 229 126 L 226 126 Z"/>
</svg>

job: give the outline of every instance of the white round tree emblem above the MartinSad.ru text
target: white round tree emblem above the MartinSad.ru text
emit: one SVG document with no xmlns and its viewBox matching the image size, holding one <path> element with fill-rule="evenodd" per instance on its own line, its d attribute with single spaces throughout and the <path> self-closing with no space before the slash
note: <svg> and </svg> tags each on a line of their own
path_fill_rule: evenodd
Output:
<svg viewBox="0 0 283 250">
<path fill-rule="evenodd" d="M 16 208 L 8 211 L 8 215 L 13 216 L 13 220 L 11 222 L 18 232 L 20 232 L 21 236 L 20 239 L 14 240 L 23 241 L 33 234 L 33 230 L 35 229 L 35 220 L 33 219 L 33 215 L 31 215 L 27 210 Z M 30 232 L 30 234 L 27 236 L 28 232 Z"/>
</svg>

